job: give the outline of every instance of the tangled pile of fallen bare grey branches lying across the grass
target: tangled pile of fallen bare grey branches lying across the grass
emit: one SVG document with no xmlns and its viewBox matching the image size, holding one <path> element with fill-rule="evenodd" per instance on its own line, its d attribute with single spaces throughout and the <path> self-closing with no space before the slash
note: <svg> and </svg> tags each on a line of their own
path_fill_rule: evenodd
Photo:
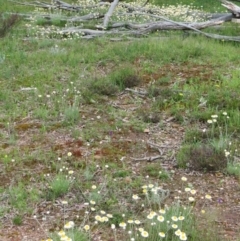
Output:
<svg viewBox="0 0 240 241">
<path fill-rule="evenodd" d="M 83 6 L 72 5 L 61 0 L 53 0 L 49 3 L 46 3 L 43 1 L 34 1 L 32 3 L 18 2 L 13 0 L 10 0 L 10 1 L 17 4 L 35 6 L 37 8 L 44 8 L 44 9 L 50 9 L 50 10 L 61 9 L 61 10 L 75 12 L 77 14 L 79 14 L 82 11 L 83 16 L 67 17 L 62 14 L 57 16 L 58 19 L 60 18 L 60 20 L 67 21 L 70 23 L 75 23 L 75 25 L 78 22 L 83 23 L 81 27 L 64 28 L 64 29 L 59 29 L 58 31 L 63 34 L 80 33 L 82 34 L 82 38 L 92 38 L 92 37 L 102 36 L 105 34 L 115 34 L 115 35 L 122 35 L 122 36 L 132 35 L 134 37 L 141 37 L 141 36 L 147 36 L 152 32 L 162 31 L 162 30 L 192 30 L 208 38 L 218 39 L 223 41 L 240 42 L 240 36 L 236 36 L 236 37 L 222 36 L 222 35 L 211 34 L 211 33 L 206 33 L 201 31 L 202 29 L 205 29 L 211 26 L 221 25 L 224 22 L 232 20 L 233 18 L 240 17 L 240 7 L 226 0 L 222 0 L 222 5 L 226 7 L 231 12 L 231 14 L 209 15 L 209 14 L 203 13 L 203 16 L 209 19 L 208 21 L 204 21 L 204 22 L 172 21 L 162 16 L 161 9 L 156 10 L 156 9 L 149 9 L 145 7 L 148 3 L 148 0 L 146 0 L 143 6 L 139 6 L 139 7 L 138 6 L 133 7 L 130 4 L 122 3 L 122 2 L 119 3 L 119 0 L 114 0 L 112 1 L 109 9 L 105 14 L 97 13 L 97 12 L 93 13 L 93 10 L 103 5 L 107 5 L 107 4 L 109 5 L 109 3 L 107 2 L 106 3 L 100 2 L 92 6 L 83 7 Z M 124 22 L 124 23 L 120 22 L 120 23 L 109 24 L 110 18 L 112 17 L 114 10 L 116 9 L 117 6 L 121 6 L 126 9 L 126 13 L 121 13 L 121 15 L 136 15 L 136 16 L 145 15 L 153 20 L 149 23 L 139 23 L 139 24 L 131 23 L 131 22 Z M 86 14 L 86 9 L 89 9 L 91 12 Z M 32 14 L 32 16 L 34 15 Z M 29 19 L 32 19 L 30 16 L 28 17 Z M 38 15 L 38 17 L 45 18 L 49 20 L 51 23 L 51 19 L 54 19 L 56 15 L 45 14 L 45 15 Z M 96 23 L 95 21 L 92 24 L 92 27 L 89 28 L 89 23 L 85 24 L 85 22 L 88 22 L 91 20 L 97 20 L 101 18 L 104 18 L 102 25 Z M 154 21 L 154 19 L 156 19 L 156 21 Z"/>
</svg>

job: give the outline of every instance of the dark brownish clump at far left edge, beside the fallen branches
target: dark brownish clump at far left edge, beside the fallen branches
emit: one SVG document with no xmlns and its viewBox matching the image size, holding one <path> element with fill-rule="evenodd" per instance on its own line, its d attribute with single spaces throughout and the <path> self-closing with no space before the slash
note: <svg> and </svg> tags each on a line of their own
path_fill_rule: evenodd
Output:
<svg viewBox="0 0 240 241">
<path fill-rule="evenodd" d="M 17 14 L 11 14 L 7 18 L 0 13 L 0 38 L 3 38 L 7 33 L 20 21 Z"/>
</svg>

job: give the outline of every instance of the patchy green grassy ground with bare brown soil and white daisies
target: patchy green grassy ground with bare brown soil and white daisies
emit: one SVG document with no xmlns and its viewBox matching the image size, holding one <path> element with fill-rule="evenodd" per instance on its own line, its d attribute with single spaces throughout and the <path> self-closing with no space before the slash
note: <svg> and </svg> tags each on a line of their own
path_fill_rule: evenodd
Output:
<svg viewBox="0 0 240 241">
<path fill-rule="evenodd" d="M 51 26 L 0 39 L 1 240 L 239 240 L 239 44 Z"/>
</svg>

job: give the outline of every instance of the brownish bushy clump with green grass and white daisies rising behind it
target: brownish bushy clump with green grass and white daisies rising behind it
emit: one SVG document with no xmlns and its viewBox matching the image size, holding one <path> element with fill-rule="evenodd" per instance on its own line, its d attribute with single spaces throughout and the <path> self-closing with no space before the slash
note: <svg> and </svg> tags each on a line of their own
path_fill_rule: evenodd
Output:
<svg viewBox="0 0 240 241">
<path fill-rule="evenodd" d="M 228 163 L 228 118 L 227 112 L 214 114 L 207 120 L 210 128 L 187 131 L 186 144 L 177 154 L 178 165 L 196 171 L 223 171 Z"/>
</svg>

